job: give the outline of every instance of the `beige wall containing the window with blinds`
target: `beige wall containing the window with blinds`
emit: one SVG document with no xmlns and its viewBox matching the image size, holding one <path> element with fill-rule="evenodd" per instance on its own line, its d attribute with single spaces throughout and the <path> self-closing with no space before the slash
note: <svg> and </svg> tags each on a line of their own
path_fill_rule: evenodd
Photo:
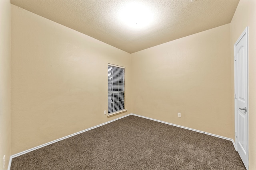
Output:
<svg viewBox="0 0 256 170">
<path fill-rule="evenodd" d="M 130 113 L 130 54 L 12 5 L 12 154 Z M 126 67 L 126 113 L 108 109 L 108 63 Z"/>
</svg>

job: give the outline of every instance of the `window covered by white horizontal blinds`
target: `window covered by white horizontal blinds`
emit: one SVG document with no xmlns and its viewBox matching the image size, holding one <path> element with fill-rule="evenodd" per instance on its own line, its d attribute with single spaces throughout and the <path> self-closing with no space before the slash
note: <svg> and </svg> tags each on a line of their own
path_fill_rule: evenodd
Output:
<svg viewBox="0 0 256 170">
<path fill-rule="evenodd" d="M 125 109 L 124 70 L 108 64 L 108 115 Z"/>
</svg>

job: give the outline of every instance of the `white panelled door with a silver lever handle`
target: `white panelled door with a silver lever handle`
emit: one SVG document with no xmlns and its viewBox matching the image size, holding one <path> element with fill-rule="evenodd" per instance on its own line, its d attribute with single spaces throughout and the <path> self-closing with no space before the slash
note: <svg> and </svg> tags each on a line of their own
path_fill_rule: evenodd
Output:
<svg viewBox="0 0 256 170">
<path fill-rule="evenodd" d="M 248 27 L 234 45 L 236 150 L 248 169 Z"/>
</svg>

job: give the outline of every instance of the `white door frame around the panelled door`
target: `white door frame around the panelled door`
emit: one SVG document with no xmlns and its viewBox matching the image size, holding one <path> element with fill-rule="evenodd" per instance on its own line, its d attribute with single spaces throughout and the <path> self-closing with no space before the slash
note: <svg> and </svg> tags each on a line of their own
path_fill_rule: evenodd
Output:
<svg viewBox="0 0 256 170">
<path fill-rule="evenodd" d="M 237 113 L 237 110 L 236 110 L 236 106 L 237 106 L 237 102 L 236 102 L 236 94 L 237 94 L 237 86 L 236 86 L 236 82 L 237 82 L 237 80 L 236 80 L 236 76 L 237 76 L 237 70 L 236 70 L 236 63 L 235 63 L 235 61 L 236 61 L 236 56 L 235 56 L 235 54 L 236 54 L 236 45 L 238 44 L 238 42 L 242 39 L 242 37 L 244 37 L 244 35 L 246 36 L 246 43 L 247 43 L 247 71 L 246 71 L 246 74 L 247 74 L 247 117 L 246 117 L 246 119 L 247 119 L 247 127 L 246 127 L 246 133 L 247 133 L 247 139 L 246 139 L 246 141 L 247 141 L 247 150 L 246 150 L 246 153 L 247 153 L 247 162 L 248 162 L 248 165 L 247 165 L 247 167 L 246 167 L 246 169 L 248 170 L 248 166 L 249 166 L 249 133 L 248 133 L 248 131 L 249 131 L 249 81 L 248 81 L 248 78 L 249 78 L 249 76 L 248 76 L 248 59 L 249 59 L 249 57 L 248 57 L 248 27 L 246 27 L 245 29 L 244 29 L 244 31 L 243 31 L 243 33 L 240 35 L 240 37 L 237 39 L 237 41 L 236 41 L 236 43 L 234 44 L 234 95 L 235 95 L 235 97 L 234 97 L 234 112 L 235 112 L 235 143 L 236 143 L 236 151 L 238 150 L 238 140 L 236 140 L 236 132 L 238 131 L 238 122 L 237 122 L 237 116 L 238 116 L 238 113 Z"/>
</svg>

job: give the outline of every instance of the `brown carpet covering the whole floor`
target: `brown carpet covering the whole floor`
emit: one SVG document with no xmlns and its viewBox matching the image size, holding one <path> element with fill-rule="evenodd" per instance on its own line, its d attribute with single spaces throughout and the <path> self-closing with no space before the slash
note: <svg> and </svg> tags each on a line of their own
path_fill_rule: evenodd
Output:
<svg viewBox="0 0 256 170">
<path fill-rule="evenodd" d="M 231 141 L 130 115 L 12 159 L 11 170 L 245 170 Z"/>
</svg>

